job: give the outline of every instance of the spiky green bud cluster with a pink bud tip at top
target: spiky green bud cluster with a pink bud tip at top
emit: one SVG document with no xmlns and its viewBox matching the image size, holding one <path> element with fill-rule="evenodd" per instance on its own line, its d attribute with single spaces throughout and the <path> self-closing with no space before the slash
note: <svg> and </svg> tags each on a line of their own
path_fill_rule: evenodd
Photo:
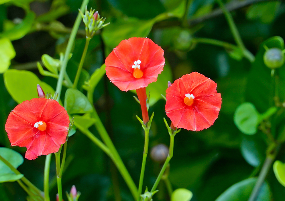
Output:
<svg viewBox="0 0 285 201">
<path fill-rule="evenodd" d="M 84 15 L 80 9 L 79 9 L 79 12 L 85 24 L 85 31 L 86 31 L 87 38 L 92 38 L 96 31 L 110 24 L 110 22 L 107 24 L 104 24 L 106 18 L 101 17 L 98 11 L 95 12 L 95 10 L 92 8 L 90 9 L 90 11 L 87 10 L 87 6 L 85 8 Z"/>
</svg>

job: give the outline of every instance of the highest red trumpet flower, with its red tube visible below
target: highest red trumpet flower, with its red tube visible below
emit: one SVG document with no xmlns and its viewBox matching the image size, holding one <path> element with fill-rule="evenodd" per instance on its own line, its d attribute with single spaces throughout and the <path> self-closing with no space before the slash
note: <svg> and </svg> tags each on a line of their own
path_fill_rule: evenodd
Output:
<svg viewBox="0 0 285 201">
<path fill-rule="evenodd" d="M 163 70 L 163 54 L 149 38 L 123 40 L 106 58 L 106 74 L 122 91 L 146 87 Z"/>
</svg>

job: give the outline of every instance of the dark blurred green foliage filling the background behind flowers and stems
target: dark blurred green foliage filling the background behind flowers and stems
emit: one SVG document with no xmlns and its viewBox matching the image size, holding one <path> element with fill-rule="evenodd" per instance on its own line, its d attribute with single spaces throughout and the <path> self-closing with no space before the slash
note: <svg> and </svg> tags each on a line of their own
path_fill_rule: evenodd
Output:
<svg viewBox="0 0 285 201">
<path fill-rule="evenodd" d="M 0 72 L 8 67 L 13 69 L 5 74 L 12 76 L 12 83 L 4 83 L 4 76 L 0 74 L 1 147 L 12 148 L 22 155 L 25 153 L 26 148 L 10 146 L 4 130 L 7 116 L 17 103 L 37 97 L 35 84 L 40 84 L 44 91 L 50 87 L 55 89 L 56 79 L 42 76 L 37 62 L 44 66 L 44 54 L 60 58 L 81 3 L 79 0 L 0 0 Z M 252 136 L 241 133 L 234 124 L 233 116 L 237 107 L 245 101 L 253 103 L 260 114 L 274 106 L 274 80 L 263 62 L 265 49 L 262 42 L 280 36 L 277 40 L 281 41 L 280 48 L 284 49 L 284 2 L 233 0 L 224 3 L 232 5 L 231 14 L 241 38 L 247 49 L 256 55 L 252 64 L 238 51 L 193 43 L 192 38 L 203 37 L 235 44 L 225 16 L 213 0 L 91 0 L 89 3 L 89 7 L 98 10 L 111 24 L 91 40 L 83 66 L 85 71 L 78 86 L 89 79 L 89 74 L 104 63 L 105 57 L 123 39 L 147 36 L 165 51 L 165 69 L 158 76 L 158 81 L 147 88 L 147 91 L 151 90 L 150 113 L 155 113 L 150 130 L 150 147 L 169 144 L 168 131 L 163 122 L 163 117 L 166 117 L 165 100 L 160 96 L 165 94 L 168 80 L 172 82 L 184 74 L 197 71 L 217 82 L 217 91 L 222 95 L 222 108 L 214 126 L 201 132 L 182 130 L 177 134 L 174 157 L 170 162 L 169 178 L 174 189 L 191 190 L 193 201 L 225 201 L 232 200 L 231 196 L 247 200 L 255 183 L 253 176 L 258 175 L 265 159 L 266 143 L 259 130 Z M 67 66 L 72 81 L 85 43 L 84 24 L 81 25 Z M 2 51 L 5 48 L 9 51 Z M 285 84 L 284 69 L 283 66 L 280 70 L 281 99 L 285 96 L 285 88 L 282 88 Z M 17 91 L 18 96 L 11 97 L 5 85 L 9 91 Z M 27 94 L 26 90 L 31 93 Z M 80 90 L 86 93 L 83 88 Z M 30 97 L 31 94 L 33 97 Z M 64 92 L 61 98 L 63 104 Z M 136 119 L 136 115 L 141 115 L 139 104 L 133 99 L 132 92 L 121 92 L 106 76 L 95 88 L 93 99 L 115 147 L 138 184 L 144 146 L 144 132 Z M 284 127 L 283 120 L 284 117 L 280 117 L 275 121 L 277 130 Z M 90 130 L 97 134 L 94 126 Z M 277 135 L 278 131 L 274 132 Z M 276 158 L 282 162 L 285 160 L 284 150 L 285 147 L 281 146 Z M 44 159 L 44 156 L 33 161 L 24 159 L 18 168 L 40 189 L 43 187 Z M 152 186 L 160 165 L 148 156 L 144 186 Z M 132 200 L 113 163 L 78 130 L 68 140 L 66 166 L 62 178 L 63 191 L 69 191 L 72 185 L 76 185 L 82 193 L 80 200 Z M 50 173 L 55 175 L 54 160 Z M 56 178 L 51 177 L 50 181 L 51 200 L 55 200 Z M 240 186 L 246 188 L 241 190 Z M 155 200 L 169 200 L 163 182 L 158 189 Z M 285 188 L 277 181 L 272 168 L 261 191 L 259 200 L 284 200 Z M 120 196 L 114 198 L 114 192 L 119 192 Z M 0 183 L 1 201 L 25 200 L 25 197 L 25 192 L 17 183 Z"/>
</svg>

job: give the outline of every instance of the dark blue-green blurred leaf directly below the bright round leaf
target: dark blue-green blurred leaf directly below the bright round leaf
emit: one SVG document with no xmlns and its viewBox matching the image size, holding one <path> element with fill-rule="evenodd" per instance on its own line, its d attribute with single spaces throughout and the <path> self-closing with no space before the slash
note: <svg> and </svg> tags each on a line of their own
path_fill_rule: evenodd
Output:
<svg viewBox="0 0 285 201">
<path fill-rule="evenodd" d="M 260 136 L 243 136 L 241 154 L 249 165 L 258 167 L 266 157 L 266 148 L 267 146 Z"/>
</svg>

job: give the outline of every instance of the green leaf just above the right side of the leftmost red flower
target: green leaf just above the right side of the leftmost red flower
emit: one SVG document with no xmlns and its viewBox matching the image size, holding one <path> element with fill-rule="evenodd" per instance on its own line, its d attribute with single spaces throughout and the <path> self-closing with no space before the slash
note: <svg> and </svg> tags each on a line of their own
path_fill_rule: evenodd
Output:
<svg viewBox="0 0 285 201">
<path fill-rule="evenodd" d="M 65 93 L 64 108 L 68 114 L 92 112 L 93 107 L 87 97 L 77 89 L 68 89 Z"/>
</svg>

